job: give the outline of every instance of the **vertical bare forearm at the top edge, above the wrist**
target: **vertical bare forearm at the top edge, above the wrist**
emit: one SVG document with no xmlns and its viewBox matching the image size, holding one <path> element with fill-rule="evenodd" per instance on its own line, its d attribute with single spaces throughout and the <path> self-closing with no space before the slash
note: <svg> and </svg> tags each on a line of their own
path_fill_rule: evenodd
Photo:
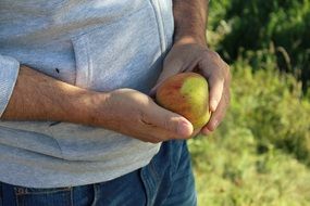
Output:
<svg viewBox="0 0 310 206">
<path fill-rule="evenodd" d="M 174 41 L 207 44 L 208 0 L 173 0 Z"/>
</svg>

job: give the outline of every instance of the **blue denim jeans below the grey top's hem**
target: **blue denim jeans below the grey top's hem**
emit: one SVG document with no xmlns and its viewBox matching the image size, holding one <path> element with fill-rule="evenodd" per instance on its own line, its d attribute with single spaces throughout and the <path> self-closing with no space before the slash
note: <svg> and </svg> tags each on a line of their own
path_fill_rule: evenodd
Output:
<svg viewBox="0 0 310 206">
<path fill-rule="evenodd" d="M 164 142 L 147 166 L 108 182 L 55 189 L 32 189 L 0 182 L 0 206 L 86 205 L 197 205 L 186 142 Z"/>
</svg>

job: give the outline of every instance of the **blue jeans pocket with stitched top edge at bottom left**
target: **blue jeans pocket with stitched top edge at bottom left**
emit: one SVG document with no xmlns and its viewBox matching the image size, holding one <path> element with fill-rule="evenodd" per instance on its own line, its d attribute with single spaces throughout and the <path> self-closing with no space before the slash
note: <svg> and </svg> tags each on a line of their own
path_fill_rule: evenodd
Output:
<svg viewBox="0 0 310 206">
<path fill-rule="evenodd" d="M 71 206 L 72 188 L 30 189 L 14 186 L 17 206 Z"/>
</svg>

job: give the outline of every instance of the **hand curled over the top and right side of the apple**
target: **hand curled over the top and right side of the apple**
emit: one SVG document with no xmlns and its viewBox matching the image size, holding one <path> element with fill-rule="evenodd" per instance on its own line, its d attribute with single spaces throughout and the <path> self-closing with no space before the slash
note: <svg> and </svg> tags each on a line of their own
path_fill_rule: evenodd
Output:
<svg viewBox="0 0 310 206">
<path fill-rule="evenodd" d="M 223 120 L 230 104 L 230 66 L 207 47 L 198 43 L 175 43 L 165 57 L 163 70 L 150 94 L 154 95 L 163 80 L 183 72 L 199 73 L 209 83 L 209 110 L 212 115 L 201 128 L 203 134 L 209 134 Z"/>
</svg>

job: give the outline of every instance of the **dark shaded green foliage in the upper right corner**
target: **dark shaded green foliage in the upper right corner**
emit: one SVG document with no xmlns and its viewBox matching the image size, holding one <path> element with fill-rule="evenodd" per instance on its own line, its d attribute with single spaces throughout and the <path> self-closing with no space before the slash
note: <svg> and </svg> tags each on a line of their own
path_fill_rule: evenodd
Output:
<svg viewBox="0 0 310 206">
<path fill-rule="evenodd" d="M 310 80 L 309 0 L 211 1 L 209 28 L 221 36 L 211 44 L 215 44 L 230 63 L 241 56 L 249 60 L 255 69 L 264 67 L 261 56 L 252 55 L 259 51 L 261 55 L 272 56 L 277 69 L 301 79 L 303 90 L 307 89 Z"/>
</svg>

